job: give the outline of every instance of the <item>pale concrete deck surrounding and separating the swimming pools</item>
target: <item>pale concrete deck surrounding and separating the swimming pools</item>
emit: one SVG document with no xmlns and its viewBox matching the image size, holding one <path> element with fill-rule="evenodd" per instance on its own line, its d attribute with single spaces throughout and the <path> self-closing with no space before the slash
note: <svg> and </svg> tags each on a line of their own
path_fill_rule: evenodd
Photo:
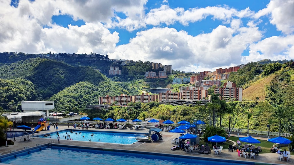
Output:
<svg viewBox="0 0 294 165">
<path fill-rule="evenodd" d="M 66 130 L 68 126 L 59 125 L 58 130 L 63 131 Z M 70 127 L 71 128 L 71 127 Z M 19 130 L 19 129 L 15 129 Z M 81 130 L 81 129 L 77 129 Z M 89 130 L 100 130 L 100 131 L 114 131 L 114 132 L 136 132 L 136 133 L 148 133 L 149 130 L 130 130 L 130 129 L 96 129 L 96 128 L 89 128 Z M 39 133 L 35 133 L 35 135 L 41 135 L 44 133 L 55 132 L 56 130 L 51 127 L 49 131 L 42 131 Z M 211 154 L 198 154 L 198 152 L 194 151 L 184 152 L 182 150 L 172 151 L 171 147 L 176 144 L 171 144 L 171 140 L 176 138 L 176 133 L 171 132 L 162 132 L 163 140 L 157 142 L 136 142 L 132 145 L 123 145 L 123 144 L 114 144 L 114 143 L 100 143 L 100 142 L 83 142 L 83 141 L 74 141 L 74 140 L 60 140 L 61 144 L 71 145 L 71 146 L 83 146 L 83 147 L 97 147 L 97 148 L 106 148 L 106 149 L 125 149 L 125 150 L 132 150 L 132 151 L 144 151 L 144 152 L 153 152 L 153 153 L 166 153 L 166 154 L 177 154 L 177 155 L 189 155 L 195 157 L 206 157 L 206 158 L 217 158 L 217 159 L 230 159 L 230 160 L 240 160 L 240 161 L 252 161 L 252 162 L 259 162 L 259 163 L 270 163 L 270 164 L 293 164 L 293 158 L 290 158 L 288 162 L 280 161 L 278 159 L 277 154 L 275 153 L 267 153 L 263 154 L 262 152 L 259 156 L 256 156 L 255 159 L 243 158 L 238 157 L 237 152 L 228 152 L 228 149 L 223 149 L 220 155 L 215 155 L 213 152 Z M 258 138 L 260 140 L 264 140 L 264 138 Z M 21 137 L 16 137 L 14 145 L 9 145 L 8 147 L 1 146 L 0 153 L 2 155 L 9 154 L 11 150 L 20 151 L 24 149 L 24 147 L 36 147 L 36 144 L 47 144 L 49 142 L 57 144 L 57 139 L 45 139 L 45 138 L 31 138 L 31 141 L 19 141 Z M 10 138 L 9 140 L 14 140 L 14 138 Z"/>
</svg>

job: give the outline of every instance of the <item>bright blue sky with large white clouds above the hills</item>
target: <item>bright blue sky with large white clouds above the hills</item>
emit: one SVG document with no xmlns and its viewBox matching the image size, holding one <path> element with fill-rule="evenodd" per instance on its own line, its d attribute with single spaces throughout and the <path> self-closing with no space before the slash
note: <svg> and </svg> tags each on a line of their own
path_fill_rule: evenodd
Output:
<svg viewBox="0 0 294 165">
<path fill-rule="evenodd" d="M 95 52 L 185 72 L 294 58 L 292 0 L 0 3 L 1 52 Z"/>
</svg>

